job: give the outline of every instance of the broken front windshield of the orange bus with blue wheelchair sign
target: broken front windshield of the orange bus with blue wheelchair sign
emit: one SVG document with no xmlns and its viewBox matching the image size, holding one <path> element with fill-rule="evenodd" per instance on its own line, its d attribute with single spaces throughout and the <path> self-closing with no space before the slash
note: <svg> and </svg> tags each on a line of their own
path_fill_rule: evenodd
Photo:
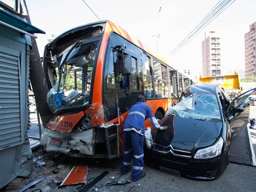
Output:
<svg viewBox="0 0 256 192">
<path fill-rule="evenodd" d="M 47 103 L 53 112 L 81 108 L 89 104 L 98 43 L 76 43 L 76 46 L 69 47 L 61 54 L 58 78 L 47 94 Z M 62 98 L 56 100 L 56 95 Z"/>
</svg>

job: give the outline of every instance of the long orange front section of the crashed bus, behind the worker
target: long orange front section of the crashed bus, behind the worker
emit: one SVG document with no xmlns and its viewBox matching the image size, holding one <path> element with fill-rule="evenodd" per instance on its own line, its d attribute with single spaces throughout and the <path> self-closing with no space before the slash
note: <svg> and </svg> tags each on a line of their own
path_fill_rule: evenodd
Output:
<svg viewBox="0 0 256 192">
<path fill-rule="evenodd" d="M 54 114 L 40 139 L 47 152 L 117 158 L 123 123 L 138 95 L 145 95 L 158 119 L 172 104 L 174 70 L 111 21 L 61 34 L 45 46 L 43 66 Z"/>
</svg>

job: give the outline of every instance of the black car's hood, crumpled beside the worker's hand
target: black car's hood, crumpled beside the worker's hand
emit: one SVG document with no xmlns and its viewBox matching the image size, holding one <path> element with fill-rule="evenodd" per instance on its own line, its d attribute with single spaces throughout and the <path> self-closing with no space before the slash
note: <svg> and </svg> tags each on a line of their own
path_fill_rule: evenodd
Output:
<svg viewBox="0 0 256 192">
<path fill-rule="evenodd" d="M 152 133 L 155 145 L 163 148 L 171 145 L 173 149 L 188 152 L 212 145 L 219 137 L 223 125 L 220 121 L 186 119 L 172 114 L 164 117 L 159 124 L 168 126 L 168 129 Z"/>
</svg>

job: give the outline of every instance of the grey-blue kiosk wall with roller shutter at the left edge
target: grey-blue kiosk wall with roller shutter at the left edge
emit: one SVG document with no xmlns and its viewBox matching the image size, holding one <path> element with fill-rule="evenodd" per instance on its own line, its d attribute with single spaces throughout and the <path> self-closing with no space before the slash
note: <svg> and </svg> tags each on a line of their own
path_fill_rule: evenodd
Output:
<svg viewBox="0 0 256 192">
<path fill-rule="evenodd" d="M 0 189 L 33 169 L 33 154 L 27 136 L 29 53 L 31 38 L 6 22 L 14 19 L 0 13 Z M 8 19 L 9 18 L 9 19 Z M 20 24 L 24 24 L 20 22 Z M 26 25 L 27 26 L 27 25 Z"/>
</svg>

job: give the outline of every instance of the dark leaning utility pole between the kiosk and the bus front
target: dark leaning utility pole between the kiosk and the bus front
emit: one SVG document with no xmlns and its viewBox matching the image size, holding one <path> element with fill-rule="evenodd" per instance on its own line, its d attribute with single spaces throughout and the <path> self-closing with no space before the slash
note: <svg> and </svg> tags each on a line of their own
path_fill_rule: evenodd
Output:
<svg viewBox="0 0 256 192">
<path fill-rule="evenodd" d="M 24 0 L 26 11 L 28 14 L 28 8 Z M 29 24 L 31 20 L 29 14 L 27 16 L 22 15 Z M 53 114 L 47 104 L 47 93 L 49 92 L 45 74 L 43 73 L 43 66 L 40 59 L 38 47 L 36 44 L 36 38 L 31 37 L 32 49 L 30 50 L 30 67 L 29 67 L 29 78 L 33 88 L 33 92 L 36 99 L 36 104 L 38 111 L 43 123 L 43 126 L 46 127 L 46 124 L 52 119 Z"/>
</svg>

